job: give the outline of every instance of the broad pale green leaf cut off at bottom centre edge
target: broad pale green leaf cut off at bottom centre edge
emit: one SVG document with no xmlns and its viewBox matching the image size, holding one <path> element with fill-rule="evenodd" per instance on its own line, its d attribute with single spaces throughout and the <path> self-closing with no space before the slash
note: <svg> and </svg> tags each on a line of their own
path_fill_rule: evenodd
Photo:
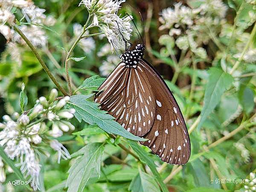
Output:
<svg viewBox="0 0 256 192">
<path fill-rule="evenodd" d="M 131 181 L 128 190 L 131 192 L 161 192 L 154 178 L 141 170 Z"/>
</svg>

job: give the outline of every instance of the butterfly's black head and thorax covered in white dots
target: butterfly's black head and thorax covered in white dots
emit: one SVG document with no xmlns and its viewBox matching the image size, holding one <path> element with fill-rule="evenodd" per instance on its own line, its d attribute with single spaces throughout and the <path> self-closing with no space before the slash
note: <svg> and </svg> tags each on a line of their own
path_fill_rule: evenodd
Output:
<svg viewBox="0 0 256 192">
<path fill-rule="evenodd" d="M 125 66 L 136 68 L 139 59 L 143 58 L 144 49 L 145 49 L 145 45 L 137 44 L 135 49 L 131 51 L 126 50 L 125 53 L 121 55 L 121 58 L 125 63 Z"/>
</svg>

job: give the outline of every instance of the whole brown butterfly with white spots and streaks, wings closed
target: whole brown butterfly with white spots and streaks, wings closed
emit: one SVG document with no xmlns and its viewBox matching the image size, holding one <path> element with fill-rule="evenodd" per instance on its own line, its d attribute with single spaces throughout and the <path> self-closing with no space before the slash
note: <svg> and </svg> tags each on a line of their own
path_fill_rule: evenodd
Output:
<svg viewBox="0 0 256 192">
<path fill-rule="evenodd" d="M 131 44 L 132 45 L 132 44 Z M 160 74 L 144 58 L 145 44 L 131 46 L 95 95 L 101 110 L 115 117 L 166 163 L 182 165 L 190 157 L 190 140 L 180 108 Z"/>
</svg>

